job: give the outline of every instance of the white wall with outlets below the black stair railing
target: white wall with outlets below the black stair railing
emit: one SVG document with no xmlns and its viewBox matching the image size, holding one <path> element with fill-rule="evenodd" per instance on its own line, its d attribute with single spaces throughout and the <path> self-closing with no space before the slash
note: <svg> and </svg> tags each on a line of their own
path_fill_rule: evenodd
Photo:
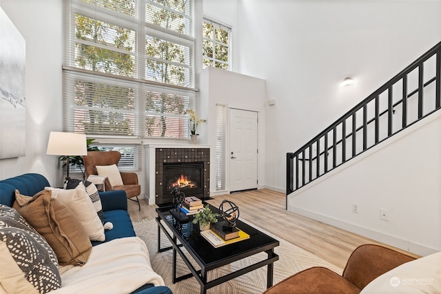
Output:
<svg viewBox="0 0 441 294">
<path fill-rule="evenodd" d="M 440 150 L 438 111 L 291 193 L 288 210 L 420 255 L 441 251 Z"/>
</svg>

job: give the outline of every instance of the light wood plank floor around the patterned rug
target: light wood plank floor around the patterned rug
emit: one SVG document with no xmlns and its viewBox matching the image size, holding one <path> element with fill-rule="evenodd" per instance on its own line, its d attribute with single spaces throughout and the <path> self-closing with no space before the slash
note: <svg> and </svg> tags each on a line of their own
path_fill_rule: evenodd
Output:
<svg viewBox="0 0 441 294">
<path fill-rule="evenodd" d="M 267 189 L 252 190 L 215 196 L 213 200 L 207 202 L 218 207 L 225 199 L 231 200 L 239 207 L 240 218 L 341 268 L 345 267 L 349 255 L 357 246 L 368 243 L 382 244 L 287 211 L 283 193 Z M 156 207 L 156 205 L 147 205 L 145 200 L 141 200 L 141 211 L 139 211 L 138 204 L 129 201 L 130 218 L 132 221 L 155 218 Z M 418 255 L 413 256 L 418 257 Z"/>
</svg>

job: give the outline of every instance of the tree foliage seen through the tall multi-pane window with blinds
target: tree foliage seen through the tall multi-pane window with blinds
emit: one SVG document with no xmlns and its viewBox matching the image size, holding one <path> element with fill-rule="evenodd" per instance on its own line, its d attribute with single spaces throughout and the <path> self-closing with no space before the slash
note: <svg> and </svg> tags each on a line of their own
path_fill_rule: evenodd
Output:
<svg viewBox="0 0 441 294">
<path fill-rule="evenodd" d="M 143 9 L 147 26 L 116 25 L 103 21 L 100 14 L 76 12 L 74 14 L 74 66 L 92 72 L 102 72 L 127 78 L 141 78 L 165 85 L 194 87 L 190 54 L 194 52 L 190 41 L 178 41 L 175 34 L 190 34 L 189 0 L 83 0 L 99 8 L 119 12 L 136 21 L 136 9 Z M 143 6 L 143 7 L 139 7 Z M 111 15 L 111 14 L 110 14 Z M 121 22 L 123 23 L 123 22 Z M 125 26 L 130 28 L 125 28 Z M 157 27 L 157 28 L 156 28 Z M 145 52 L 136 52 L 136 38 L 143 30 Z M 162 31 L 172 31 L 167 34 Z M 161 32 L 161 34 L 158 34 Z M 161 37 L 159 37 L 161 36 Z M 139 41 L 138 41 L 139 42 Z M 140 54 L 145 54 L 141 56 Z M 140 59 L 140 60 L 138 60 Z M 143 62 L 141 62 L 143 61 Z M 141 69 L 141 70 L 140 70 Z M 127 82 L 128 83 L 128 82 Z M 74 129 L 85 134 L 116 136 L 171 136 L 182 138 L 187 132 L 189 97 L 172 94 L 173 90 L 153 92 L 136 90 L 127 83 L 94 81 L 93 78 L 75 78 Z M 139 103 L 137 101 L 142 101 Z M 145 101 L 145 103 L 144 103 Z M 136 107 L 145 104 L 145 112 Z M 143 113 L 144 118 L 136 116 Z M 144 134 L 139 134 L 144 122 Z M 185 126 L 181 127 L 181 126 Z"/>
</svg>

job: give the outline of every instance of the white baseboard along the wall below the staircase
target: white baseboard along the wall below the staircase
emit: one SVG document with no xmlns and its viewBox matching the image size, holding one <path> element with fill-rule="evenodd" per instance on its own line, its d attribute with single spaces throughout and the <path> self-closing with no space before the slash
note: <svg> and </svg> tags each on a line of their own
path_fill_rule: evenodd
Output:
<svg viewBox="0 0 441 294">
<path fill-rule="evenodd" d="M 343 229 L 345 231 L 349 231 L 351 233 L 362 235 L 363 237 L 370 238 L 372 240 L 376 240 L 378 242 L 382 242 L 384 244 L 388 244 L 398 249 L 409 251 L 411 253 L 418 254 L 421 256 L 426 256 L 439 251 L 421 244 L 409 242 L 409 240 L 403 240 L 401 238 L 397 238 L 391 235 L 386 235 L 384 233 L 373 231 L 365 227 L 360 227 L 356 224 L 343 222 L 342 220 L 331 218 L 329 216 L 323 216 L 322 214 L 315 213 L 314 211 L 308 211 L 305 209 L 300 209 L 298 207 L 289 207 L 288 211 L 291 211 L 292 213 L 296 213 L 300 216 L 305 216 L 306 218 L 311 218 L 313 220 L 317 220 L 319 222 L 329 224 L 331 226 L 337 227 L 339 229 Z"/>
</svg>

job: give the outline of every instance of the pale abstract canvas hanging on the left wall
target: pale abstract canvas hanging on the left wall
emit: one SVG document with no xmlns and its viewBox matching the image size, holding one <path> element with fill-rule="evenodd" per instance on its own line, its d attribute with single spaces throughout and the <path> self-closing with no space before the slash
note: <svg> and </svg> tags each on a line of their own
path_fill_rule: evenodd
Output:
<svg viewBox="0 0 441 294">
<path fill-rule="evenodd" d="M 0 159 L 25 156 L 25 39 L 0 8 Z"/>
</svg>

